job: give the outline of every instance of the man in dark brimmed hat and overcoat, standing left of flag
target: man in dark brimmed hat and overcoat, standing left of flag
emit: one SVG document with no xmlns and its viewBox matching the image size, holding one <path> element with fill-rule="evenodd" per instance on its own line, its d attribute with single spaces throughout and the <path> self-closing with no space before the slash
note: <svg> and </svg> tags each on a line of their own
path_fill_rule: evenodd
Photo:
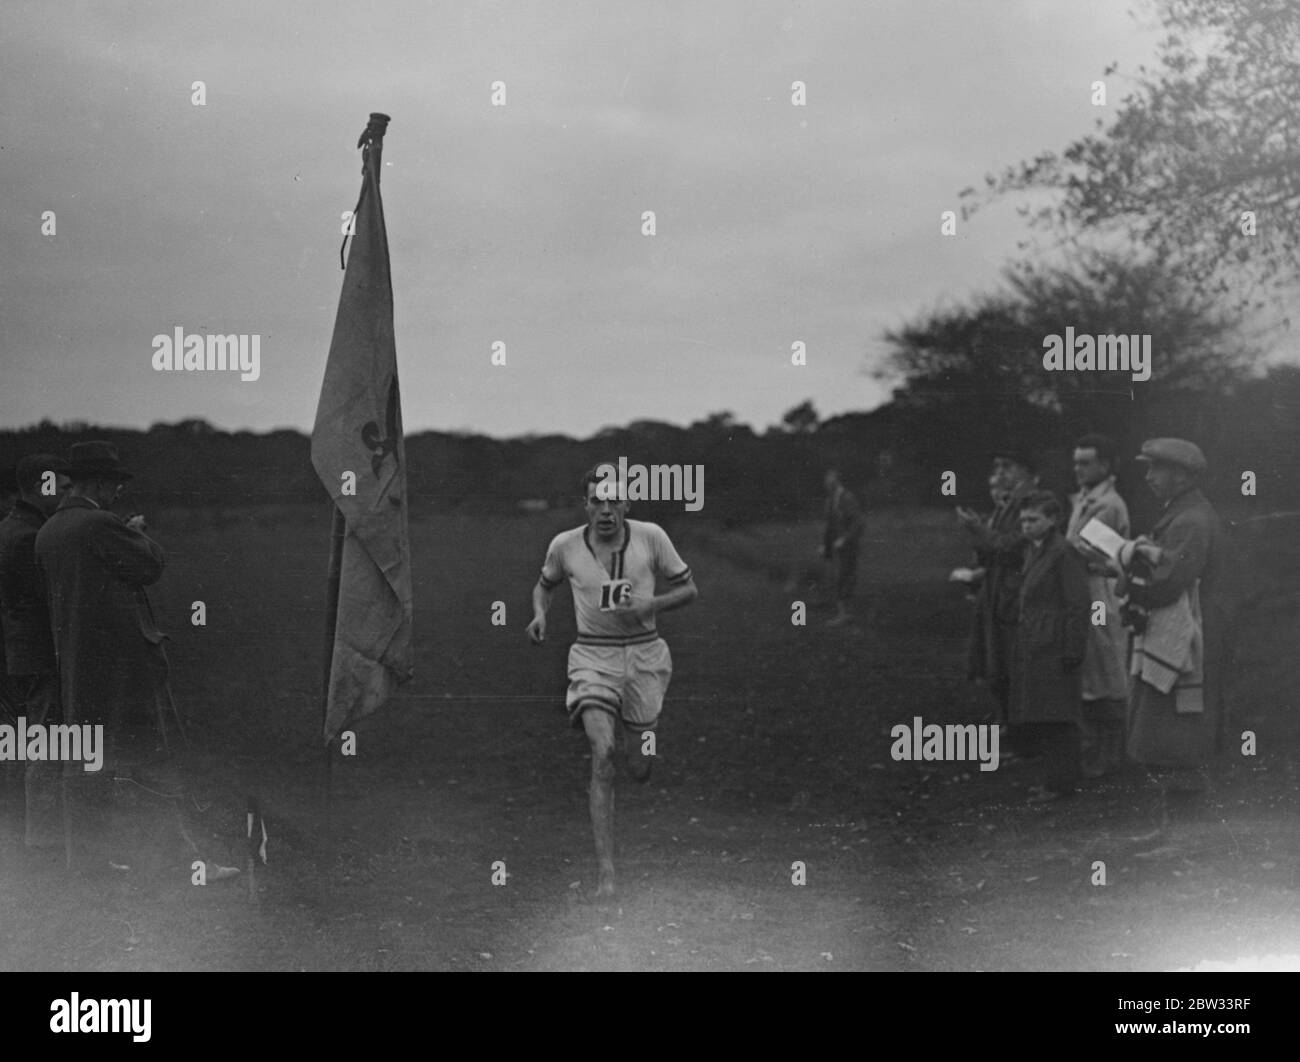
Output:
<svg viewBox="0 0 1300 1062">
<path fill-rule="evenodd" d="M 58 654 L 64 719 L 104 727 L 105 767 L 66 771 L 74 841 L 91 868 L 129 870 L 125 844 L 110 832 L 113 780 L 138 781 L 176 802 L 179 780 L 169 770 L 165 636 L 153 620 L 146 586 L 162 575 L 162 547 L 144 534 L 143 517 L 109 511 L 131 474 L 107 442 L 77 443 L 68 465 L 72 489 L 36 536 L 49 617 Z M 231 870 L 230 874 L 234 871 Z M 207 871 L 207 880 L 228 876 Z"/>
</svg>

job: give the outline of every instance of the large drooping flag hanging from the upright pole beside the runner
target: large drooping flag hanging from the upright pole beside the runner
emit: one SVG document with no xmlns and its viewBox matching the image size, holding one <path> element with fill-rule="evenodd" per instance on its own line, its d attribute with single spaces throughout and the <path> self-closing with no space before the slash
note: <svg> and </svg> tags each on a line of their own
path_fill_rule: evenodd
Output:
<svg viewBox="0 0 1300 1062">
<path fill-rule="evenodd" d="M 372 114 L 363 148 L 361 198 L 312 428 L 312 465 L 346 524 L 325 741 L 377 711 L 411 677 L 411 545 L 406 445 L 393 341 L 393 279 L 380 200 L 384 133 Z"/>
</svg>

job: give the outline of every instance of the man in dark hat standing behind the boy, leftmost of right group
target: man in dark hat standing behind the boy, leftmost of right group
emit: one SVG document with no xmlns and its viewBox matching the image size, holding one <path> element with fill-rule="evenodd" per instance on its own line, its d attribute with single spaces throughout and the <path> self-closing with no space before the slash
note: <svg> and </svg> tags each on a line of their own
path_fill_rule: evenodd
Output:
<svg viewBox="0 0 1300 1062">
<path fill-rule="evenodd" d="M 996 450 L 989 490 L 998 500 L 987 519 L 957 507 L 957 520 L 970 534 L 975 564 L 984 569 L 975 598 L 967 677 L 983 680 L 997 706 L 997 723 L 1008 725 L 1011 697 L 1011 654 L 1020 619 L 1020 571 L 1027 539 L 1020 532 L 1020 502 L 1037 489 L 1034 459 L 1022 448 Z M 1008 733 L 1008 737 L 1010 734 Z"/>
</svg>

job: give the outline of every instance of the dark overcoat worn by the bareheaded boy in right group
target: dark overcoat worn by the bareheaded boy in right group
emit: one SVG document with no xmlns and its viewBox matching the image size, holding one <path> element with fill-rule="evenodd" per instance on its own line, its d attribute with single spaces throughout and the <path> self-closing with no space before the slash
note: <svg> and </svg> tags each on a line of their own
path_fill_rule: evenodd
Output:
<svg viewBox="0 0 1300 1062">
<path fill-rule="evenodd" d="M 1053 529 L 1026 547 L 1011 663 L 1011 723 L 1083 721 L 1080 664 L 1088 645 L 1088 572 Z"/>
</svg>

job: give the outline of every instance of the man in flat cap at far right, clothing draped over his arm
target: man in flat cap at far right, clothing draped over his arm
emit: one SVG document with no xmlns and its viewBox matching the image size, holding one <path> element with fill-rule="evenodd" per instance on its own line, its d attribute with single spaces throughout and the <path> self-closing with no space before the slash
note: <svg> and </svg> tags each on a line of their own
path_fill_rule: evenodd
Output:
<svg viewBox="0 0 1300 1062">
<path fill-rule="evenodd" d="M 1158 777 L 1161 836 L 1204 796 L 1222 710 L 1231 616 L 1227 541 L 1197 482 L 1205 455 L 1186 439 L 1148 439 L 1138 460 L 1164 503 L 1150 536 L 1121 551 L 1117 589 L 1134 627 L 1128 757 Z"/>
</svg>

